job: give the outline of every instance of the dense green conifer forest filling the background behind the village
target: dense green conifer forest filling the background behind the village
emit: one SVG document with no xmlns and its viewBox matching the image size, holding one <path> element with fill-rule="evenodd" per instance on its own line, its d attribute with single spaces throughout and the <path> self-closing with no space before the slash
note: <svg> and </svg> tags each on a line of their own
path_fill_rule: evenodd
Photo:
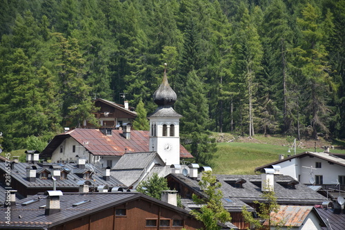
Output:
<svg viewBox="0 0 345 230">
<path fill-rule="evenodd" d="M 0 144 L 8 151 L 95 119 L 97 97 L 123 104 L 126 95 L 151 113 L 164 63 L 181 133 L 201 144 L 193 153 L 211 151 L 210 131 L 345 138 L 345 0 L 0 6 Z"/>
</svg>

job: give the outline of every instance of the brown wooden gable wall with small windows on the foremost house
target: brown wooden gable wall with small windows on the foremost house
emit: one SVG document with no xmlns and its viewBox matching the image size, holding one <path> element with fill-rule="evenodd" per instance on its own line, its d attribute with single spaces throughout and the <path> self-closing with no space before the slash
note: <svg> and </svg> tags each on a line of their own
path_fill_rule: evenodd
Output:
<svg viewBox="0 0 345 230">
<path fill-rule="evenodd" d="M 149 226 L 154 225 L 156 226 Z M 201 222 L 162 205 L 138 199 L 63 223 L 50 230 L 89 229 L 199 229 Z"/>
</svg>

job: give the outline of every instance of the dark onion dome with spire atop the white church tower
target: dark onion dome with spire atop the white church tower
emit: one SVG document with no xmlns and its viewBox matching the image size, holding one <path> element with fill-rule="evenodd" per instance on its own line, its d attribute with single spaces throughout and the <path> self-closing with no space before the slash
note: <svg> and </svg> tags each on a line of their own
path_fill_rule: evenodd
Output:
<svg viewBox="0 0 345 230">
<path fill-rule="evenodd" d="M 166 63 L 164 64 L 166 66 Z M 177 95 L 169 85 L 168 77 L 166 77 L 166 68 L 164 69 L 163 81 L 159 88 L 153 93 L 153 101 L 159 106 L 172 106 L 177 99 Z"/>
</svg>

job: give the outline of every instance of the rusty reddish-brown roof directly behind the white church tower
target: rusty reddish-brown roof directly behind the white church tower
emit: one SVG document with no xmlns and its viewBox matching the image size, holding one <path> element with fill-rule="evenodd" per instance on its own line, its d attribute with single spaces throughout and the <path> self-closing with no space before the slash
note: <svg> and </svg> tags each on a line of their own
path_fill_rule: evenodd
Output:
<svg viewBox="0 0 345 230">
<path fill-rule="evenodd" d="M 130 131 L 130 139 L 126 139 L 123 131 L 119 130 L 112 130 L 112 135 L 104 135 L 99 129 L 75 128 L 56 135 L 41 152 L 40 158 L 51 157 L 52 152 L 68 137 L 75 139 L 93 155 L 121 156 L 149 151 L 149 131 Z M 184 146 L 180 145 L 179 149 L 181 158 L 193 158 Z"/>
</svg>

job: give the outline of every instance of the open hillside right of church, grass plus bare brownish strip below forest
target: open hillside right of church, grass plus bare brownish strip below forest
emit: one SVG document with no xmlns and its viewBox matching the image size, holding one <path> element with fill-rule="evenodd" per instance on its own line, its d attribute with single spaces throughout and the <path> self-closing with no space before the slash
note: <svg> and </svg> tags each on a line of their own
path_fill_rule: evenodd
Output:
<svg viewBox="0 0 345 230">
<path fill-rule="evenodd" d="M 279 155 L 293 155 L 293 138 L 255 135 L 253 138 L 234 137 L 228 133 L 213 133 L 217 139 L 218 151 L 213 161 L 213 172 L 217 174 L 253 174 L 257 166 L 279 160 Z M 296 153 L 314 151 L 315 140 L 297 141 Z M 322 146 L 334 146 L 332 153 L 345 154 L 345 142 L 327 142 L 323 138 L 316 141 L 317 151 L 324 151 Z M 288 149 L 290 148 L 290 153 Z"/>
</svg>

